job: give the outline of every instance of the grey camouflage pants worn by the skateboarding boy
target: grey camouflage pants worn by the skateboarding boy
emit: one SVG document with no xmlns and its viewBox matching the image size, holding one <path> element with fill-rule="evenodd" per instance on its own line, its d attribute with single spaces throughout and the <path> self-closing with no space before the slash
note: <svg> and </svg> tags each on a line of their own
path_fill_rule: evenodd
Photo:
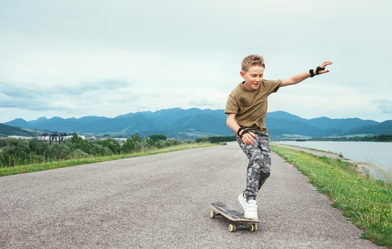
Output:
<svg viewBox="0 0 392 249">
<path fill-rule="evenodd" d="M 247 199 L 256 200 L 258 190 L 267 180 L 271 172 L 271 149 L 269 149 L 269 136 L 267 132 L 253 131 L 256 138 L 253 138 L 253 145 L 246 145 L 240 136 L 237 142 L 244 154 L 249 158 L 247 168 L 247 189 L 245 195 Z"/>
</svg>

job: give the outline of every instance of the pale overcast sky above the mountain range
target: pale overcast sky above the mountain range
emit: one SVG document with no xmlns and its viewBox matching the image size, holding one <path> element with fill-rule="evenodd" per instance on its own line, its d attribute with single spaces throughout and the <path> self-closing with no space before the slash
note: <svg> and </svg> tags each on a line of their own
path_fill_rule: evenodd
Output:
<svg viewBox="0 0 392 249">
<path fill-rule="evenodd" d="M 269 111 L 392 120 L 390 0 L 0 0 L 0 122 L 224 109 L 240 63 L 286 86 Z"/>
</svg>

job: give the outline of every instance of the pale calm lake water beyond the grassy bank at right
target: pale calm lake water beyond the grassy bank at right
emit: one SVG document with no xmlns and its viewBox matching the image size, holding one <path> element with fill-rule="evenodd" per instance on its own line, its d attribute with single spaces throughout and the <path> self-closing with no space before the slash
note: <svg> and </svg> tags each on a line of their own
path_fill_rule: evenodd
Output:
<svg viewBox="0 0 392 249">
<path fill-rule="evenodd" d="M 279 141 L 277 143 L 343 154 L 344 158 L 374 165 L 373 169 L 365 169 L 373 177 L 392 181 L 392 142 Z"/>
</svg>

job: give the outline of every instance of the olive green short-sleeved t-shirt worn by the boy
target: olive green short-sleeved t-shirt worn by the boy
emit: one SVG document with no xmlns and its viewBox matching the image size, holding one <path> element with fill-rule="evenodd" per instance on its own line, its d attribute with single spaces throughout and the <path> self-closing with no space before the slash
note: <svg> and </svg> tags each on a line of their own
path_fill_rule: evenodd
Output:
<svg viewBox="0 0 392 249">
<path fill-rule="evenodd" d="M 244 82 L 231 91 L 226 102 L 224 113 L 235 113 L 240 127 L 267 131 L 265 116 L 267 115 L 267 98 L 278 91 L 282 80 L 262 80 L 257 90 L 248 90 Z"/>
</svg>

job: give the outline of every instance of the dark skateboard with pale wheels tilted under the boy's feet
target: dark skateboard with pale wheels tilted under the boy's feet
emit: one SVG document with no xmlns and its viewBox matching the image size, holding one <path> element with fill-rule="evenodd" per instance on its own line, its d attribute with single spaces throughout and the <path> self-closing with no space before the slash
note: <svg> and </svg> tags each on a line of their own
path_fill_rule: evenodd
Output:
<svg viewBox="0 0 392 249">
<path fill-rule="evenodd" d="M 231 208 L 231 206 L 221 202 L 211 203 L 211 208 L 214 210 L 210 212 L 211 219 L 214 219 L 217 215 L 222 215 L 226 219 L 233 221 L 229 225 L 230 232 L 235 232 L 237 229 L 250 229 L 252 232 L 257 231 L 256 223 L 260 223 L 260 220 L 247 219 L 244 217 L 244 212 L 235 210 L 235 208 Z"/>
</svg>

